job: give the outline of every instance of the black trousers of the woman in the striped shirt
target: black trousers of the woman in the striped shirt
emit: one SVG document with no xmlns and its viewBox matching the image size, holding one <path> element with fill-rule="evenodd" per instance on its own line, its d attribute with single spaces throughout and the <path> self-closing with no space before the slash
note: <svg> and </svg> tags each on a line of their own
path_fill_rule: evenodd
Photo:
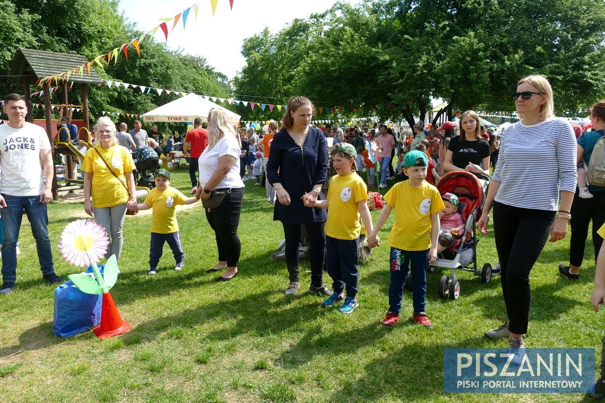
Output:
<svg viewBox="0 0 605 403">
<path fill-rule="evenodd" d="M 526 334 L 528 330 L 531 288 L 529 272 L 551 230 L 555 211 L 512 207 L 494 202 L 494 235 L 498 251 L 502 295 L 512 333 Z"/>
</svg>

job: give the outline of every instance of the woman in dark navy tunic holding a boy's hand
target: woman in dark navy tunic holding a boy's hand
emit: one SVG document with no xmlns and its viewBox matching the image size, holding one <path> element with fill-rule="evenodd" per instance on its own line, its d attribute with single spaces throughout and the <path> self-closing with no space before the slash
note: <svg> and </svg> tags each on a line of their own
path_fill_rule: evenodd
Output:
<svg viewBox="0 0 605 403">
<path fill-rule="evenodd" d="M 324 199 L 321 187 L 327 178 L 327 141 L 321 130 L 310 125 L 315 106 L 306 97 L 292 97 L 282 119 L 281 131 L 275 134 L 267 163 L 267 178 L 275 188 L 273 220 L 281 221 L 286 238 L 286 265 L 290 283 L 286 295 L 294 295 L 300 287 L 298 245 L 301 225 L 309 237 L 311 265 L 310 292 L 332 295 L 322 282 L 324 274 L 325 209 L 304 207 L 307 198 Z"/>
</svg>

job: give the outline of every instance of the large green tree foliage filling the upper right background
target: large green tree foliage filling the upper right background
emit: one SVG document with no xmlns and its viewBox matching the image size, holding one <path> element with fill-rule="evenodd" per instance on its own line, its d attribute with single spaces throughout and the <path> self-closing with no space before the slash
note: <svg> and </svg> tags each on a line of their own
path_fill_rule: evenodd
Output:
<svg viewBox="0 0 605 403">
<path fill-rule="evenodd" d="M 274 36 L 265 30 L 249 38 L 236 92 L 304 94 L 318 106 L 344 106 L 341 117 L 376 114 L 413 124 L 424 120 L 431 98 L 463 110 L 512 110 L 508 95 L 517 80 L 543 74 L 557 114 L 574 114 L 605 95 L 602 6 L 590 0 L 336 4 Z"/>
</svg>

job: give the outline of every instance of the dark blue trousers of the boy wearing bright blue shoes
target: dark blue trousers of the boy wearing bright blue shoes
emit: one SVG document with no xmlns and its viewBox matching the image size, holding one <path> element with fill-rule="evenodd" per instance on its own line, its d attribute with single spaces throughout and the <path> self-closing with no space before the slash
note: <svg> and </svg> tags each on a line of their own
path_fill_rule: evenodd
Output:
<svg viewBox="0 0 605 403">
<path fill-rule="evenodd" d="M 336 294 L 347 291 L 347 297 L 355 298 L 359 282 L 359 238 L 336 239 L 325 236 L 325 264 L 332 277 L 332 289 Z"/>
</svg>

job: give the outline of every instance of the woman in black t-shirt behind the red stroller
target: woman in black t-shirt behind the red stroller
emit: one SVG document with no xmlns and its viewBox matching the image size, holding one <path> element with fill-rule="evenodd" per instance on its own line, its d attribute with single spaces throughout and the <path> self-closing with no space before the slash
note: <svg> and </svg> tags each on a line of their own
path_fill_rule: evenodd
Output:
<svg viewBox="0 0 605 403">
<path fill-rule="evenodd" d="M 489 144 L 481 135 L 479 116 L 474 111 L 460 115 L 460 135 L 450 140 L 443 167 L 489 176 Z"/>
</svg>

